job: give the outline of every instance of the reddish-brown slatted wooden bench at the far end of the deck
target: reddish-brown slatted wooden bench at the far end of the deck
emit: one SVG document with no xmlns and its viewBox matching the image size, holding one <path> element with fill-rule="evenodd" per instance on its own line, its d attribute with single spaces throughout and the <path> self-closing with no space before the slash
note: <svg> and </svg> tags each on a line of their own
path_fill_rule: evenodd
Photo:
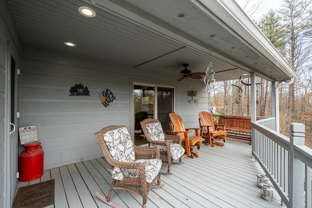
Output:
<svg viewBox="0 0 312 208">
<path fill-rule="evenodd" d="M 257 118 L 259 120 L 259 118 Z M 218 124 L 225 125 L 229 138 L 252 141 L 252 123 L 250 118 L 220 116 Z"/>
</svg>

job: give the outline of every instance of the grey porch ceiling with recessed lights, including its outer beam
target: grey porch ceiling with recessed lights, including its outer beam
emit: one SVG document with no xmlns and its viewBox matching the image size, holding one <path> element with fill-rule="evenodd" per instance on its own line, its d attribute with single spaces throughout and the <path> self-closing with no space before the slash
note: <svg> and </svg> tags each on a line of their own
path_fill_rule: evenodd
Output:
<svg viewBox="0 0 312 208">
<path fill-rule="evenodd" d="M 204 11 L 200 1 L 93 2 L 7 0 L 7 5 L 22 45 L 98 58 L 148 71 L 152 76 L 161 73 L 164 80 L 169 79 L 166 76 L 177 79 L 183 63 L 189 63 L 192 72 L 205 72 L 209 61 L 214 64 L 217 81 L 237 79 L 252 71 L 273 81 L 291 77 L 292 73 L 285 73 L 285 68 L 277 67 L 278 64 L 231 32 L 231 27 L 213 12 Z M 79 6 L 93 8 L 96 17 L 80 15 Z M 186 16 L 178 18 L 179 13 Z M 77 46 L 65 46 L 64 41 Z"/>
</svg>

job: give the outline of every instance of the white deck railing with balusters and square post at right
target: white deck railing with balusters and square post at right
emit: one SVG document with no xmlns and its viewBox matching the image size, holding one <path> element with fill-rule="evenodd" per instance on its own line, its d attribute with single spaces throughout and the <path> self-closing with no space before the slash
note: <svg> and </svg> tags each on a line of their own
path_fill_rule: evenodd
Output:
<svg viewBox="0 0 312 208">
<path fill-rule="evenodd" d="M 304 145 L 305 126 L 292 123 L 290 138 L 275 130 L 275 118 L 252 123 L 252 154 L 283 204 L 288 208 L 311 208 L 312 149 Z"/>
</svg>

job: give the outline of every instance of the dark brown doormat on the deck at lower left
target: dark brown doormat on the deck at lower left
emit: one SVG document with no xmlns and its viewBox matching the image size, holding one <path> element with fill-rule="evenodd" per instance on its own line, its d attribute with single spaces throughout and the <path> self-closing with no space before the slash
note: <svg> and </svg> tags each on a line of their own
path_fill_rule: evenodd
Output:
<svg viewBox="0 0 312 208">
<path fill-rule="evenodd" d="M 54 179 L 20 187 L 12 208 L 44 208 L 54 204 Z"/>
</svg>

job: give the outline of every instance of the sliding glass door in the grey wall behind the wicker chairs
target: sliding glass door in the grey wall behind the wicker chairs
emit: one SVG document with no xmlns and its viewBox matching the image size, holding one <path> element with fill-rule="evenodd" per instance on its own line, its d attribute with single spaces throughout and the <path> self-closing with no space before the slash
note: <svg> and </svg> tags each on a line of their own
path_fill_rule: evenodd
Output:
<svg viewBox="0 0 312 208">
<path fill-rule="evenodd" d="M 157 96 L 156 96 L 157 95 Z M 140 122 L 145 118 L 156 118 L 165 133 L 171 134 L 169 113 L 174 111 L 174 88 L 154 84 L 133 85 L 133 136 L 136 145 L 147 144 Z"/>
</svg>

